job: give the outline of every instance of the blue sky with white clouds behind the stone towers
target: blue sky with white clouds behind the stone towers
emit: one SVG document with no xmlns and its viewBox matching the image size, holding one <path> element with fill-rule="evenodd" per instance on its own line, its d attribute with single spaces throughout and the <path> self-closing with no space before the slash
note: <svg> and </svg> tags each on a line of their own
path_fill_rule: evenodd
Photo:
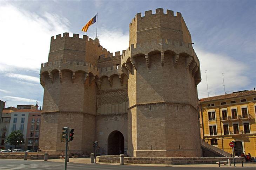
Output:
<svg viewBox="0 0 256 170">
<path fill-rule="evenodd" d="M 7 106 L 39 105 L 40 64 L 47 62 L 50 37 L 81 28 L 97 12 L 98 36 L 110 52 L 128 48 L 136 13 L 156 8 L 181 12 L 201 64 L 198 97 L 256 87 L 256 1 L 254 0 L 73 0 L 0 1 L 0 100 Z M 95 37 L 96 24 L 87 35 Z"/>
</svg>

